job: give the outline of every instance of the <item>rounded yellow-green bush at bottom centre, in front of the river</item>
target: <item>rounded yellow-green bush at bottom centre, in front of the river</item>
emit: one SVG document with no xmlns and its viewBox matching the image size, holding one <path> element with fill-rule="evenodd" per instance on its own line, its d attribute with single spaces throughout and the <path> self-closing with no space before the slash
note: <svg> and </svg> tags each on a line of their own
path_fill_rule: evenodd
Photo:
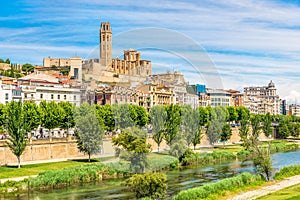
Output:
<svg viewBox="0 0 300 200">
<path fill-rule="evenodd" d="M 164 198 L 167 193 L 167 176 L 162 173 L 135 174 L 126 180 L 126 186 L 137 198 Z"/>
</svg>

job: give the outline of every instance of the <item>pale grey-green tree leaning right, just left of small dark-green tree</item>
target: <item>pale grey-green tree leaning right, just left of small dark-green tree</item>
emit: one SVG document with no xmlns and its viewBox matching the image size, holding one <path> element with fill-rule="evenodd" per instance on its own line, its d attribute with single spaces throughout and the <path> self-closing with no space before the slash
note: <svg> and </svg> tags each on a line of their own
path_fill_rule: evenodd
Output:
<svg viewBox="0 0 300 200">
<path fill-rule="evenodd" d="M 224 107 L 214 107 L 211 112 L 211 121 L 208 124 L 207 136 L 210 144 L 214 145 L 220 137 L 225 124 L 226 110 Z"/>
</svg>

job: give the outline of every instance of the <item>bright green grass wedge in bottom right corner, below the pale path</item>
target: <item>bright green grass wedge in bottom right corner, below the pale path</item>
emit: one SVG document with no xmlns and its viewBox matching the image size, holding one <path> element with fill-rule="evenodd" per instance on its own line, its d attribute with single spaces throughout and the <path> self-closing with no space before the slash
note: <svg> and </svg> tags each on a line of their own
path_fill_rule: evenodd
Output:
<svg viewBox="0 0 300 200">
<path fill-rule="evenodd" d="M 299 200 L 300 199 L 300 184 L 294 185 L 269 195 L 258 198 L 260 200 Z"/>
</svg>

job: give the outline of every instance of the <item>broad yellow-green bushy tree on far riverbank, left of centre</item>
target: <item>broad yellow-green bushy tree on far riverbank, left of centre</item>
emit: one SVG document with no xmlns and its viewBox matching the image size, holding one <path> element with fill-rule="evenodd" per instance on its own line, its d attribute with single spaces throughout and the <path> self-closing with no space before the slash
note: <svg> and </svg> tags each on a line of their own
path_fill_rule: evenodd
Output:
<svg viewBox="0 0 300 200">
<path fill-rule="evenodd" d="M 117 137 L 113 137 L 115 146 L 122 148 L 119 156 L 130 161 L 130 171 L 132 173 L 144 173 L 146 170 L 147 154 L 151 145 L 146 141 L 147 133 L 137 127 L 129 127 L 122 130 Z"/>
</svg>

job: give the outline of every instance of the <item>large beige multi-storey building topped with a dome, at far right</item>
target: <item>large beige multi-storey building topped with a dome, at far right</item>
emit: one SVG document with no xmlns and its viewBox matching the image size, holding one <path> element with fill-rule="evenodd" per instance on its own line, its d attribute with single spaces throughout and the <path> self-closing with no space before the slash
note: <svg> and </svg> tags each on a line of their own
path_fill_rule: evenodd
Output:
<svg viewBox="0 0 300 200">
<path fill-rule="evenodd" d="M 273 81 L 268 86 L 244 88 L 244 106 L 253 114 L 280 114 L 280 104 Z"/>
</svg>

